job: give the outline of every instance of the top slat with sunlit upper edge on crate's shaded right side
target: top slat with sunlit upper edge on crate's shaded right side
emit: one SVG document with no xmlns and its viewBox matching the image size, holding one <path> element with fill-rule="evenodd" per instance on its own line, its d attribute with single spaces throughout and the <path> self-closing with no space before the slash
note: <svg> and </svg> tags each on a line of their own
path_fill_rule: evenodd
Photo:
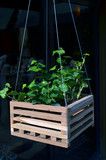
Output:
<svg viewBox="0 0 106 160">
<path fill-rule="evenodd" d="M 77 112 L 79 109 L 85 108 L 87 105 L 93 103 L 93 95 L 86 96 L 81 98 L 80 100 L 68 105 L 68 109 L 71 111 L 72 114 Z"/>
</svg>

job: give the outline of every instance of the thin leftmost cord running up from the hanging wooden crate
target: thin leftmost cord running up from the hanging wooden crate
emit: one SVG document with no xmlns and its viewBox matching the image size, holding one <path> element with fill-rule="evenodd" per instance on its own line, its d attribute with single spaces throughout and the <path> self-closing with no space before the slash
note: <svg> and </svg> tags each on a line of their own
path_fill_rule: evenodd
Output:
<svg viewBox="0 0 106 160">
<path fill-rule="evenodd" d="M 31 0 L 29 0 L 29 2 L 28 2 L 28 8 L 27 8 L 27 14 L 26 14 L 25 26 L 24 26 L 24 32 L 23 32 L 23 37 L 22 37 L 21 51 L 20 51 L 20 57 L 19 57 L 17 75 L 16 75 L 15 90 L 17 89 L 18 80 L 19 80 L 19 72 L 20 72 L 21 61 L 22 61 L 22 53 L 23 53 L 23 48 L 24 48 L 25 35 L 26 35 L 26 29 L 27 29 L 27 23 L 28 23 L 29 11 L 30 11 L 30 5 L 31 5 Z"/>
</svg>

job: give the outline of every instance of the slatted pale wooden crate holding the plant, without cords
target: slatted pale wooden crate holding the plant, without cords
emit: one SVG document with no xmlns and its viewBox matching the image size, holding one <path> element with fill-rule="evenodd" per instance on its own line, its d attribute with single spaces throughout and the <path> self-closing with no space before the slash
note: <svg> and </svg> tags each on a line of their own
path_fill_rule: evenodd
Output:
<svg viewBox="0 0 106 160">
<path fill-rule="evenodd" d="M 67 107 L 10 102 L 11 134 L 68 148 L 72 140 L 94 125 L 93 96 Z"/>
</svg>

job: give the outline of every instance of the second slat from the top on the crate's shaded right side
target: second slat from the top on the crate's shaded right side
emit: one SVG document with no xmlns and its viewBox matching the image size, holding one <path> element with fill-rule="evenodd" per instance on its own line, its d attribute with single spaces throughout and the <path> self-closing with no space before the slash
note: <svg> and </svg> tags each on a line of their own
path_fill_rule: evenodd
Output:
<svg viewBox="0 0 106 160">
<path fill-rule="evenodd" d="M 78 115 L 76 115 L 73 118 L 70 118 L 70 124 L 73 124 L 77 121 L 79 121 L 80 119 L 82 119 L 84 116 L 86 116 L 87 114 L 89 114 L 90 112 L 92 112 L 94 110 L 93 107 L 90 107 L 88 109 L 85 109 L 83 112 L 79 113 Z"/>
</svg>

